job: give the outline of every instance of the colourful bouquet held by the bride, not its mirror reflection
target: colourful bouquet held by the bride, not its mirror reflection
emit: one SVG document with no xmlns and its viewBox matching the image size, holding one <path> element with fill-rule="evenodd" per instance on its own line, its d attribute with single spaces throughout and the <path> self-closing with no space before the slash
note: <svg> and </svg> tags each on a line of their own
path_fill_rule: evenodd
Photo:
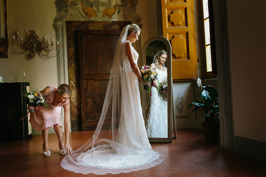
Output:
<svg viewBox="0 0 266 177">
<path fill-rule="evenodd" d="M 154 85 L 153 81 L 158 79 L 158 75 L 155 72 L 155 68 L 151 68 L 149 65 L 143 65 L 142 69 L 140 70 L 140 74 L 145 82 L 150 82 L 150 86 L 144 85 L 144 90 L 149 90 L 150 91 L 150 96 L 151 96 L 151 87 Z M 142 89 L 142 87 L 141 87 Z"/>
</svg>

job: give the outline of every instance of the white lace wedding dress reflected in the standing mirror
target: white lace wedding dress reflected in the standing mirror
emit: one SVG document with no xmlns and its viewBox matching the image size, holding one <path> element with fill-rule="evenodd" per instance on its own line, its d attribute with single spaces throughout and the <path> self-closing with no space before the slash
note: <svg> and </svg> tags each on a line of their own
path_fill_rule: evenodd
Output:
<svg viewBox="0 0 266 177">
<path fill-rule="evenodd" d="M 152 63 L 155 67 L 155 65 Z M 155 68 L 156 73 L 158 73 L 158 81 L 161 83 L 167 78 L 167 68 L 163 67 L 165 70 L 161 71 Z M 153 138 L 167 138 L 167 102 L 165 94 L 158 92 L 155 86 L 151 89 L 152 97 L 150 100 L 150 114 L 147 119 L 146 130 L 148 137 Z"/>
</svg>

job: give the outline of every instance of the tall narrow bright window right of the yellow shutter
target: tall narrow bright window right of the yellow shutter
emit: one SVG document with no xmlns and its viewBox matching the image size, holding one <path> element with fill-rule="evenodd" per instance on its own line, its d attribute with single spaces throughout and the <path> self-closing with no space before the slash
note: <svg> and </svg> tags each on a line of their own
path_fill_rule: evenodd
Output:
<svg viewBox="0 0 266 177">
<path fill-rule="evenodd" d="M 203 78 L 217 78 L 212 0 L 201 0 Z"/>
</svg>

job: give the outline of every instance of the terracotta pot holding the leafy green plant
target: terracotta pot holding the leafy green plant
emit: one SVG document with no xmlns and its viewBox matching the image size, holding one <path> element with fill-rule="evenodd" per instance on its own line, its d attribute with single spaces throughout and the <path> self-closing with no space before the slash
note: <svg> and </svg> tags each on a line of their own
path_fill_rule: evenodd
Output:
<svg viewBox="0 0 266 177">
<path fill-rule="evenodd" d="M 206 140 L 217 140 L 220 124 L 219 123 L 201 123 L 205 139 Z"/>
</svg>

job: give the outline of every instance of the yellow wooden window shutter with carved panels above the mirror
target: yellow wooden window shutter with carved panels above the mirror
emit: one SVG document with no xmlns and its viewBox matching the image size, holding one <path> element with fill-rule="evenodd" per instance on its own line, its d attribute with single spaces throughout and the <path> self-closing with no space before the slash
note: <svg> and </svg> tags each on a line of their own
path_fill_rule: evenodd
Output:
<svg viewBox="0 0 266 177">
<path fill-rule="evenodd" d="M 163 37 L 172 45 L 173 81 L 198 78 L 193 0 L 161 0 Z"/>
</svg>

